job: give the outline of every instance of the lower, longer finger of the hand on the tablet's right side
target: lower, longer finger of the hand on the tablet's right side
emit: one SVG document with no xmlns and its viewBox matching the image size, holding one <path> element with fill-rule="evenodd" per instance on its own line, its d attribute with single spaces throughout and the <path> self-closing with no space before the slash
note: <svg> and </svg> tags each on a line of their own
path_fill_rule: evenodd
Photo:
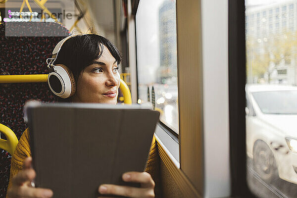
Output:
<svg viewBox="0 0 297 198">
<path fill-rule="evenodd" d="M 128 198 L 154 198 L 153 188 L 135 188 L 130 186 L 118 186 L 103 184 L 99 187 L 100 194 L 119 195 Z"/>
</svg>

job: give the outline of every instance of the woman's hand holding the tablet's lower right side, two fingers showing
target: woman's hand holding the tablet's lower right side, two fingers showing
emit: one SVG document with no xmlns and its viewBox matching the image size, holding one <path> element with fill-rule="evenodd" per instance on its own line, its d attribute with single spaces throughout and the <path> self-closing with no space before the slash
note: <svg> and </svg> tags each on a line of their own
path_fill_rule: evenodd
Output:
<svg viewBox="0 0 297 198">
<path fill-rule="evenodd" d="M 100 194 L 119 195 L 129 198 L 154 198 L 154 181 L 148 172 L 126 172 L 122 176 L 125 182 L 136 182 L 141 188 L 102 184 Z"/>
</svg>

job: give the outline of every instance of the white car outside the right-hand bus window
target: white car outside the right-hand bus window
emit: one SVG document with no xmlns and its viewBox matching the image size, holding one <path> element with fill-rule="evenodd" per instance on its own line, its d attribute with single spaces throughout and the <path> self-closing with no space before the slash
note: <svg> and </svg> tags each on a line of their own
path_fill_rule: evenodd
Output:
<svg viewBox="0 0 297 198">
<path fill-rule="evenodd" d="M 297 87 L 247 85 L 247 155 L 266 182 L 297 184 Z"/>
</svg>

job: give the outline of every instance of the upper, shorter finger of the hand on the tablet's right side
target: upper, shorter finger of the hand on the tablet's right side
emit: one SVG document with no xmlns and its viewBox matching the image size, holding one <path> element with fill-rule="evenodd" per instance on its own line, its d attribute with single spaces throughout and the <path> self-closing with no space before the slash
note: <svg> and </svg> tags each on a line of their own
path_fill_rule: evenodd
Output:
<svg viewBox="0 0 297 198">
<path fill-rule="evenodd" d="M 141 183 L 142 188 L 153 188 L 155 183 L 148 172 L 126 172 L 122 176 L 125 182 Z"/>
</svg>

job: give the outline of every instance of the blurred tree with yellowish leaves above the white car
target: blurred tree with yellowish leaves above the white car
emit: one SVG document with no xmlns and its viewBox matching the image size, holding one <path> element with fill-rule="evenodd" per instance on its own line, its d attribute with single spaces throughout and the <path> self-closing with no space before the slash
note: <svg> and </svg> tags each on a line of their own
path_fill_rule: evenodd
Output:
<svg viewBox="0 0 297 198">
<path fill-rule="evenodd" d="M 295 32 L 270 34 L 263 39 L 247 38 L 247 79 L 263 78 L 268 74 L 270 82 L 271 72 L 275 66 L 284 61 L 291 64 L 297 60 L 297 40 Z"/>
</svg>

